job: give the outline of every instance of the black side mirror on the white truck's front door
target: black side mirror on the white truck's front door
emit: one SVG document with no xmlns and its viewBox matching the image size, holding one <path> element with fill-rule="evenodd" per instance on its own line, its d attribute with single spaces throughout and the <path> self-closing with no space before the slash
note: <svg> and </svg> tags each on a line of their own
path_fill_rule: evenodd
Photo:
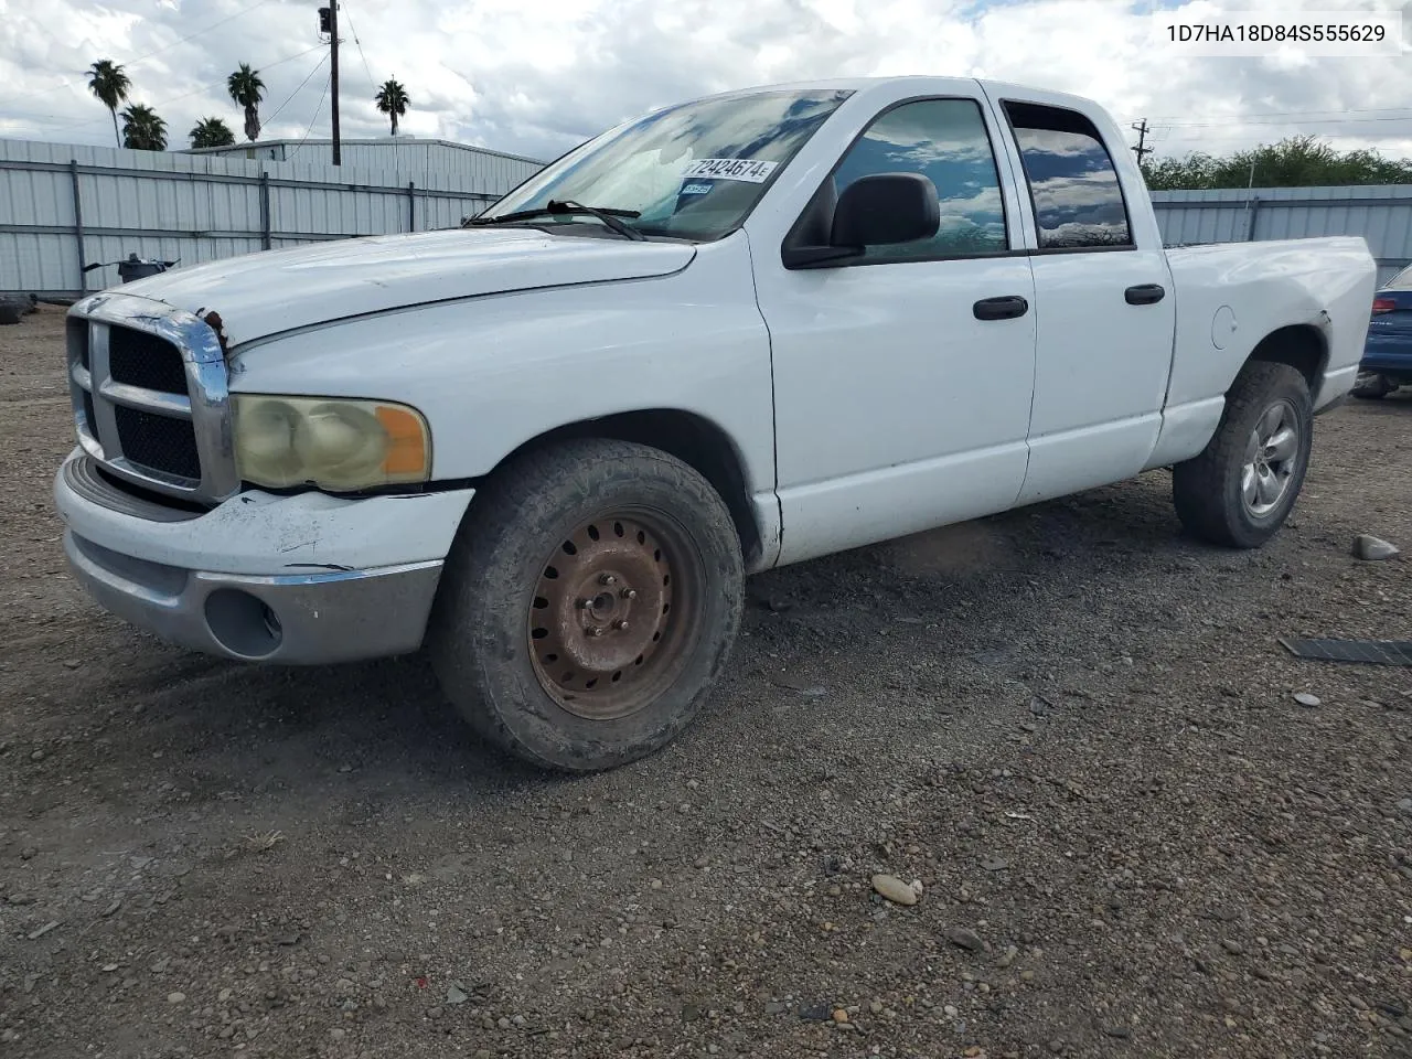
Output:
<svg viewBox="0 0 1412 1059">
<path fill-rule="evenodd" d="M 857 257 L 870 246 L 931 239 L 942 225 L 936 185 L 916 172 L 860 176 L 839 196 L 832 220 L 823 213 L 826 205 L 810 203 L 810 212 L 822 216 L 813 219 L 816 234 L 809 241 L 820 239 L 823 232 L 818 229 L 823 222 L 827 244 L 784 247 L 785 268 L 827 268 L 834 261 Z"/>
</svg>

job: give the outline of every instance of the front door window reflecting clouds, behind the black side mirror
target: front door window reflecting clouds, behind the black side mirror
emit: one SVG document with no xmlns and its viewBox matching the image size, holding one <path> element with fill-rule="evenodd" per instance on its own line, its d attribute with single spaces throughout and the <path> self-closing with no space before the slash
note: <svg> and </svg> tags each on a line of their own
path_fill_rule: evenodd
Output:
<svg viewBox="0 0 1412 1059">
<path fill-rule="evenodd" d="M 881 114 L 839 164 L 834 192 L 880 172 L 931 178 L 942 225 L 933 239 L 868 247 L 864 260 L 969 257 L 1010 249 L 995 154 L 974 100 L 923 99 Z"/>
</svg>

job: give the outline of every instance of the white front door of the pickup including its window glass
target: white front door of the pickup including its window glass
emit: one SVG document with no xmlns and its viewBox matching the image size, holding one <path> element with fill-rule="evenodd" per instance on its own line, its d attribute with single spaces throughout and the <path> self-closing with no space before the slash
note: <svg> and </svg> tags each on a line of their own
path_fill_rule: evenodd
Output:
<svg viewBox="0 0 1412 1059">
<path fill-rule="evenodd" d="M 753 247 L 774 359 L 781 563 L 1001 511 L 1019 493 L 1035 288 L 993 121 L 979 99 L 899 103 L 827 178 L 836 195 L 868 174 L 926 175 L 942 215 L 933 239 L 801 270 Z"/>
</svg>

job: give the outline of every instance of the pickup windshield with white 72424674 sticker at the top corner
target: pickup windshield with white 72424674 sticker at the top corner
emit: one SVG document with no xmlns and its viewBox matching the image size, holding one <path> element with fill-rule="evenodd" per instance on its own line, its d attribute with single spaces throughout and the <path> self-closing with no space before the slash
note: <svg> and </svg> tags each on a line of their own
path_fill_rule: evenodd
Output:
<svg viewBox="0 0 1412 1059">
<path fill-rule="evenodd" d="M 713 240 L 734 232 L 846 90 L 751 92 L 682 103 L 603 133 L 551 162 L 476 217 L 549 201 L 631 210 L 648 236 Z M 562 213 L 535 225 L 594 225 Z"/>
</svg>

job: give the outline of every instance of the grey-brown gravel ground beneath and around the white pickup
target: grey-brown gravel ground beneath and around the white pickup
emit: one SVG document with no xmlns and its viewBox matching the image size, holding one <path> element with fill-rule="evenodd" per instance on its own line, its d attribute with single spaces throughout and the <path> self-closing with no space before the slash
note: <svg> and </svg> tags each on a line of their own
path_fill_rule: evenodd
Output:
<svg viewBox="0 0 1412 1059">
<path fill-rule="evenodd" d="M 1350 554 L 1412 551 L 1408 397 L 1257 554 L 1152 473 L 758 578 L 698 724 L 559 779 L 421 658 L 90 604 L 61 323 L 0 330 L 0 1055 L 1412 1055 L 1412 671 L 1275 641 L 1412 634 Z"/>
</svg>

